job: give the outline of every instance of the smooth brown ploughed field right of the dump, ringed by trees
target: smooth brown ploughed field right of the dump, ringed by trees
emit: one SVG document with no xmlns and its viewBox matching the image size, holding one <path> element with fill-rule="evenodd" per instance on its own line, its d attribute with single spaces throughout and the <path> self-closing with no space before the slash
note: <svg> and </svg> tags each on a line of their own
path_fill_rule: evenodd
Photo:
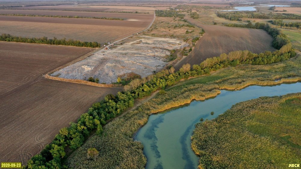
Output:
<svg viewBox="0 0 301 169">
<path fill-rule="evenodd" d="M 205 34 L 195 45 L 194 50 L 179 62 L 175 69 L 189 63 L 191 66 L 200 64 L 204 59 L 229 53 L 234 50 L 249 50 L 253 53 L 274 51 L 272 36 L 262 29 L 236 28 L 219 25 L 205 25 L 190 17 L 189 22 L 205 30 Z"/>
</svg>

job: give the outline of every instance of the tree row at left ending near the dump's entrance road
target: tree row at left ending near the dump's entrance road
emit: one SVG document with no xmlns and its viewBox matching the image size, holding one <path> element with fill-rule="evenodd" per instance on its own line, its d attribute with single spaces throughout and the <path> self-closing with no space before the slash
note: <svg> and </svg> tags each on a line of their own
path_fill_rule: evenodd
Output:
<svg viewBox="0 0 301 169">
<path fill-rule="evenodd" d="M 0 36 L 0 41 L 6 42 L 22 42 L 29 44 L 48 44 L 48 45 L 64 45 L 64 46 L 76 46 L 76 47 L 100 47 L 101 45 L 98 42 L 83 42 L 73 39 L 66 38 L 63 39 L 48 39 L 47 37 L 42 38 L 24 38 L 19 36 L 12 36 L 9 34 L 2 34 Z"/>
</svg>

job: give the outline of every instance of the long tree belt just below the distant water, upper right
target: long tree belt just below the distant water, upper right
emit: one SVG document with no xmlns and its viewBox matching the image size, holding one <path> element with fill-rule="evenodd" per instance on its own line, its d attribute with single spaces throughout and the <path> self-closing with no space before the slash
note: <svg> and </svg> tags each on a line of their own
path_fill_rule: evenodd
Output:
<svg viewBox="0 0 301 169">
<path fill-rule="evenodd" d="M 217 16 L 220 18 L 225 18 L 228 20 L 238 20 L 240 18 L 254 18 L 254 19 L 290 19 L 290 20 L 300 20 L 301 16 L 296 14 L 263 14 L 254 12 L 217 12 Z"/>
</svg>

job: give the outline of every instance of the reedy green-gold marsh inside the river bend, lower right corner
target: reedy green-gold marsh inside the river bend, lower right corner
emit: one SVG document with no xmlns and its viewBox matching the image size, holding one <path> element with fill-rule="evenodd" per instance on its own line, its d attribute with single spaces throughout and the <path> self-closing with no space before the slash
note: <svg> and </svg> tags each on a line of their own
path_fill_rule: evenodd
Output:
<svg viewBox="0 0 301 169">
<path fill-rule="evenodd" d="M 301 162 L 301 93 L 234 105 L 196 125 L 199 168 L 286 168 Z"/>
</svg>

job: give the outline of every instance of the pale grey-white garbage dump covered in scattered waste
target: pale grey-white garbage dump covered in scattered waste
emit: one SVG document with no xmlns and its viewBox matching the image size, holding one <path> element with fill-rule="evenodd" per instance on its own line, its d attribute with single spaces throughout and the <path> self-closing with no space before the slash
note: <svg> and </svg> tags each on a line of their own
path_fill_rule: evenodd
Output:
<svg viewBox="0 0 301 169">
<path fill-rule="evenodd" d="M 182 40 L 172 38 L 140 36 L 137 39 L 112 50 L 95 52 L 52 76 L 83 80 L 94 77 L 99 83 L 114 83 L 118 76 L 131 72 L 146 77 L 167 64 L 165 57 L 170 55 L 170 50 L 188 46 Z"/>
</svg>

